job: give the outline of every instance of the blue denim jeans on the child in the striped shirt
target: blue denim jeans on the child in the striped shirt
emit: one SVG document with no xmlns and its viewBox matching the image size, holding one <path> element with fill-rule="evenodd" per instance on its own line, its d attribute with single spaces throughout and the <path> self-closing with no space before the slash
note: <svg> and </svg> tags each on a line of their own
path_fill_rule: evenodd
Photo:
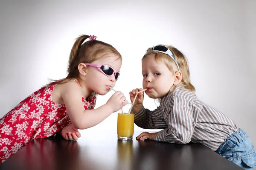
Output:
<svg viewBox="0 0 256 170">
<path fill-rule="evenodd" d="M 256 167 L 256 154 L 246 133 L 239 129 L 226 138 L 216 153 L 246 170 Z"/>
</svg>

